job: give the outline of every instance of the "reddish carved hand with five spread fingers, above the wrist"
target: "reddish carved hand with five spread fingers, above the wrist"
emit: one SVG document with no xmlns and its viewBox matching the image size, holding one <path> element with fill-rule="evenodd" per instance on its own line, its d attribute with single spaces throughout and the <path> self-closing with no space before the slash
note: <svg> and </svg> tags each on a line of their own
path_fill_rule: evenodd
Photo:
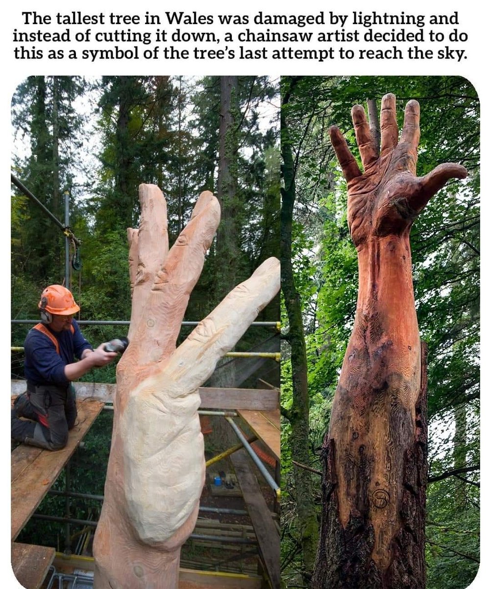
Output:
<svg viewBox="0 0 491 589">
<path fill-rule="evenodd" d="M 370 236 L 383 237 L 409 231 L 417 215 L 449 178 L 465 178 L 467 170 L 459 164 L 440 164 L 423 177 L 416 176 L 419 143 L 419 104 L 406 105 L 402 135 L 396 120 L 396 97 L 386 94 L 380 110 L 380 154 L 378 153 L 365 109 L 355 105 L 351 111 L 363 173 L 337 127 L 329 129 L 330 140 L 348 181 L 348 226 L 355 246 Z"/>
</svg>

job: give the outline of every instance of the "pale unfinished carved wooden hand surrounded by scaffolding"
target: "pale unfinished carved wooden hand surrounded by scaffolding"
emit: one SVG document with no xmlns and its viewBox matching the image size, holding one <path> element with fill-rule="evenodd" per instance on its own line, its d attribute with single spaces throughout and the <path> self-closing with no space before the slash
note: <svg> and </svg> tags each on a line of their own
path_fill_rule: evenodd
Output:
<svg viewBox="0 0 491 589">
<path fill-rule="evenodd" d="M 168 250 L 166 203 L 142 184 L 141 224 L 128 230 L 132 315 L 119 361 L 105 498 L 96 530 L 95 589 L 175 589 L 181 545 L 196 522 L 205 461 L 198 387 L 279 290 L 266 260 L 175 349 L 181 321 L 220 220 L 199 197 Z"/>
</svg>

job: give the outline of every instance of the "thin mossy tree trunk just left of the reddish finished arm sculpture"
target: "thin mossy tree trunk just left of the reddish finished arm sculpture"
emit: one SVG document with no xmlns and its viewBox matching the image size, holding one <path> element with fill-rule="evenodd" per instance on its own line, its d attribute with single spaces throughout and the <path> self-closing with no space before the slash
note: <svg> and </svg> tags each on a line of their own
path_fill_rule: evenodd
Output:
<svg viewBox="0 0 491 589">
<path fill-rule="evenodd" d="M 282 104 L 288 104 L 290 92 L 286 92 Z M 283 157 L 283 184 L 280 229 L 280 257 L 282 292 L 288 313 L 289 330 L 286 339 L 291 348 L 293 402 L 288 411 L 282 411 L 289 420 L 292 434 L 290 449 L 292 460 L 308 465 L 309 456 L 309 390 L 307 383 L 307 355 L 303 332 L 302 307 L 295 287 L 292 267 L 292 221 L 295 203 L 295 167 L 289 141 L 288 125 L 284 109 L 281 112 L 281 151 Z M 300 544 L 307 576 L 312 573 L 318 543 L 318 521 L 313 499 L 312 475 L 309 471 L 293 466 L 295 499 L 300 527 Z"/>
</svg>

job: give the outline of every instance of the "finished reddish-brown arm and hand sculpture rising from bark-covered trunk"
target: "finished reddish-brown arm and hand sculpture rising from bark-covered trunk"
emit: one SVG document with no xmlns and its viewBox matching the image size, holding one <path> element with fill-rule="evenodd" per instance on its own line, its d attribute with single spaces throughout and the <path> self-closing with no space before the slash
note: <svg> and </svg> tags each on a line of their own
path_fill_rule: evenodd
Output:
<svg viewBox="0 0 491 589">
<path fill-rule="evenodd" d="M 359 292 L 324 441 L 312 586 L 422 589 L 426 458 L 418 444 L 426 439 L 409 231 L 436 191 L 466 170 L 442 164 L 415 176 L 420 132 L 414 100 L 406 105 L 398 141 L 395 96 L 383 97 L 380 154 L 362 106 L 353 107 L 352 118 L 363 173 L 339 129 L 329 131 L 348 181 Z"/>
</svg>

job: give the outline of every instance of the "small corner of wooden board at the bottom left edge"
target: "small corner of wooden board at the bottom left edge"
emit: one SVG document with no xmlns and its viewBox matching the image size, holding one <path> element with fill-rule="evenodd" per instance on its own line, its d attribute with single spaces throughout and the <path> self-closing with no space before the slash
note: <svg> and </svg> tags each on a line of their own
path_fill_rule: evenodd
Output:
<svg viewBox="0 0 491 589">
<path fill-rule="evenodd" d="M 26 589 L 41 587 L 54 558 L 54 548 L 12 542 L 12 570 L 15 578 Z"/>
</svg>

